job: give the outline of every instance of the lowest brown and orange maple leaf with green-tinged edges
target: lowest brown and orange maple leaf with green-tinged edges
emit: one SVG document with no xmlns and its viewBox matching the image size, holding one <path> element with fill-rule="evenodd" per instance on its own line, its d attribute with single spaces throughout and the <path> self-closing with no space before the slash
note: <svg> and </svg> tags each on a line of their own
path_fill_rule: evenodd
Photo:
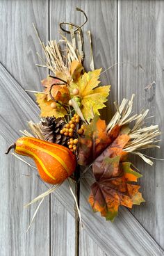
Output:
<svg viewBox="0 0 164 256">
<path fill-rule="evenodd" d="M 106 157 L 100 165 L 93 166 L 96 182 L 91 186 L 89 202 L 106 220 L 114 220 L 120 205 L 131 208 L 145 202 L 138 192 L 140 186 L 129 184 L 142 176 L 130 166 L 129 162 L 120 163 L 120 156 Z"/>
</svg>

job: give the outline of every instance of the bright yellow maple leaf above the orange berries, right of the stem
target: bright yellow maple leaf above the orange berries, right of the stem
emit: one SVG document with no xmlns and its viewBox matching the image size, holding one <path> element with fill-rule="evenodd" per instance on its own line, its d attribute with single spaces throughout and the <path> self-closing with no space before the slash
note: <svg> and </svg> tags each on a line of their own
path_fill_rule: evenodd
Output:
<svg viewBox="0 0 164 256">
<path fill-rule="evenodd" d="M 92 113 L 99 115 L 99 109 L 103 109 L 108 99 L 110 86 L 99 86 L 101 69 L 84 73 L 76 83 L 70 83 L 70 93 L 75 88 L 79 89 L 79 97 L 81 98 L 81 111 L 85 120 L 90 121 Z M 73 96 L 73 95 L 72 95 Z"/>
</svg>

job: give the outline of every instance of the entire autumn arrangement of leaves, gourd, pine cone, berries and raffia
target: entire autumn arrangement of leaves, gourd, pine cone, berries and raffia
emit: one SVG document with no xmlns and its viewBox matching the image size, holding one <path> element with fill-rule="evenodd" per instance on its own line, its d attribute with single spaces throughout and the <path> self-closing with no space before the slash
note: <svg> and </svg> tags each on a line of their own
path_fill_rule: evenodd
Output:
<svg viewBox="0 0 164 256">
<path fill-rule="evenodd" d="M 87 22 L 83 10 L 76 10 L 84 14 Z M 63 24 L 69 25 L 69 31 L 63 29 Z M 106 220 L 113 221 L 120 205 L 131 208 L 144 202 L 138 191 L 140 186 L 133 184 L 142 175 L 131 168 L 129 159 L 131 154 L 137 154 L 152 165 L 140 150 L 158 147 L 156 137 L 161 133 L 158 125 L 145 127 L 148 110 L 131 114 L 134 95 L 130 100 L 123 99 L 120 106 L 115 103 L 117 111 L 108 124 L 101 120 L 99 110 L 106 107 L 104 103 L 108 100 L 110 86 L 99 85 L 101 68 L 94 70 L 91 36 L 91 70 L 86 72 L 83 67 L 83 24 L 60 24 L 60 29 L 69 33 L 70 40 L 61 33 L 62 40 L 58 43 L 51 40 L 45 46 L 38 36 L 46 58 L 44 65 L 39 66 L 47 67 L 51 72 L 42 80 L 42 92 L 35 94 L 43 119 L 38 124 L 28 122 L 32 134 L 23 131 L 27 138 L 20 138 L 8 152 L 14 148 L 18 154 L 32 157 L 44 182 L 58 184 L 28 205 L 43 200 L 67 177 L 74 180 L 78 163 L 86 166 L 86 170 L 88 166 L 92 168 L 95 182 L 90 188 L 89 202 L 93 211 L 99 211 Z M 38 35 L 36 29 L 35 32 Z M 77 186 L 79 180 L 75 182 Z M 78 212 L 80 217 L 79 209 Z"/>
</svg>

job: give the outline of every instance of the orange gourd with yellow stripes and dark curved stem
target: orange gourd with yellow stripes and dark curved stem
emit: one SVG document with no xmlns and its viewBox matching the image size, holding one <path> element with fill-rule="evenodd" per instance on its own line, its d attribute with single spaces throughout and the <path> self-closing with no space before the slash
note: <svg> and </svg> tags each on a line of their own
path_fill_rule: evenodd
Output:
<svg viewBox="0 0 164 256">
<path fill-rule="evenodd" d="M 76 157 L 63 145 L 49 143 L 38 138 L 19 138 L 14 147 L 17 154 L 31 157 L 38 168 L 44 182 L 59 184 L 74 173 Z M 6 154 L 8 154 L 8 152 Z"/>
</svg>

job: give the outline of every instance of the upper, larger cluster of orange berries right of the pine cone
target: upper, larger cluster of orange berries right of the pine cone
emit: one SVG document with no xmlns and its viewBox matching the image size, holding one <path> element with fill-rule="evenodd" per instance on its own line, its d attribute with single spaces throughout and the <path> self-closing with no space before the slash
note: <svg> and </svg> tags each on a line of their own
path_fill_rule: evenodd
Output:
<svg viewBox="0 0 164 256">
<path fill-rule="evenodd" d="M 60 130 L 60 134 L 65 136 L 72 137 L 74 135 L 74 130 L 76 129 L 76 124 L 80 122 L 80 117 L 77 114 L 74 114 L 73 118 L 65 125 L 63 129 Z"/>
</svg>

